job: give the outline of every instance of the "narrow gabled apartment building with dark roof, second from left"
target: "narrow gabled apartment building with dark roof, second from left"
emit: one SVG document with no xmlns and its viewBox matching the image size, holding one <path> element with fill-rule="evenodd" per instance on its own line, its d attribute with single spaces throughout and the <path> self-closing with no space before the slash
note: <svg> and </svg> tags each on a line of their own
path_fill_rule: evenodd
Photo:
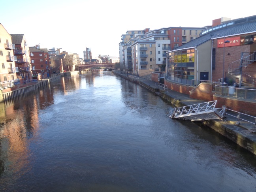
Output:
<svg viewBox="0 0 256 192">
<path fill-rule="evenodd" d="M 11 34 L 11 40 L 15 45 L 14 55 L 17 57 L 15 66 L 19 69 L 17 75 L 23 80 L 32 79 L 29 47 L 24 34 Z"/>
</svg>

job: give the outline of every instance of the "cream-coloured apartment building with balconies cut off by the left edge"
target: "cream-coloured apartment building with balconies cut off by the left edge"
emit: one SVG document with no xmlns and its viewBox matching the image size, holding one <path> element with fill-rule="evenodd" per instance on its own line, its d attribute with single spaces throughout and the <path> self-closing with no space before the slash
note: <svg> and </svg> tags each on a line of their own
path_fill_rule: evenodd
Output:
<svg viewBox="0 0 256 192">
<path fill-rule="evenodd" d="M 0 82 L 17 79 L 15 67 L 17 56 L 14 55 L 15 45 L 12 43 L 11 35 L 0 23 Z"/>
</svg>

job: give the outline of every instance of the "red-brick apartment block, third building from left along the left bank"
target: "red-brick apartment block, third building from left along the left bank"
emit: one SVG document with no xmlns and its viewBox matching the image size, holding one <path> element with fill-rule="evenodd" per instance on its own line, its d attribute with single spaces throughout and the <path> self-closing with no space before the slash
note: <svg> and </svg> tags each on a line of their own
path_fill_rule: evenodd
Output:
<svg viewBox="0 0 256 192">
<path fill-rule="evenodd" d="M 42 78 L 49 77 L 51 71 L 49 68 L 48 49 L 40 48 L 39 45 L 36 45 L 34 47 L 29 47 L 29 51 L 33 77 L 38 75 L 42 75 Z"/>
</svg>

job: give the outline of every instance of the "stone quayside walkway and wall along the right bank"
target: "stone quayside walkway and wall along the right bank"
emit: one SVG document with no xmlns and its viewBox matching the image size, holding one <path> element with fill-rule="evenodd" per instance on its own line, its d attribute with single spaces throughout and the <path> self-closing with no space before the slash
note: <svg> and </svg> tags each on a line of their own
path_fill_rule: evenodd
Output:
<svg viewBox="0 0 256 192">
<path fill-rule="evenodd" d="M 160 91 L 156 86 L 156 82 L 152 81 L 149 77 L 131 78 L 128 74 L 121 73 L 120 71 L 113 71 L 113 73 L 147 88 L 167 102 L 170 102 L 175 107 L 183 107 L 205 102 L 203 100 L 190 98 L 189 95 L 168 88 L 165 91 Z M 240 124 L 237 125 L 237 122 L 238 119 L 236 117 L 228 116 L 224 120 L 206 120 L 202 123 L 256 155 L 256 133 L 252 131 L 254 129 L 253 124 L 240 122 Z"/>
</svg>

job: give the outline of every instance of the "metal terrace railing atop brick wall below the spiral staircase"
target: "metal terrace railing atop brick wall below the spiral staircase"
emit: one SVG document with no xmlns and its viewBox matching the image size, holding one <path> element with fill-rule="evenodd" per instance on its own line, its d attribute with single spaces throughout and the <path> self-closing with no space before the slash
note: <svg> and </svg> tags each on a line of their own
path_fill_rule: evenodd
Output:
<svg viewBox="0 0 256 192">
<path fill-rule="evenodd" d="M 216 95 L 224 95 L 233 98 L 242 98 L 247 100 L 256 100 L 256 89 L 250 88 L 237 88 L 237 87 L 226 87 L 215 85 L 214 86 Z"/>
</svg>

